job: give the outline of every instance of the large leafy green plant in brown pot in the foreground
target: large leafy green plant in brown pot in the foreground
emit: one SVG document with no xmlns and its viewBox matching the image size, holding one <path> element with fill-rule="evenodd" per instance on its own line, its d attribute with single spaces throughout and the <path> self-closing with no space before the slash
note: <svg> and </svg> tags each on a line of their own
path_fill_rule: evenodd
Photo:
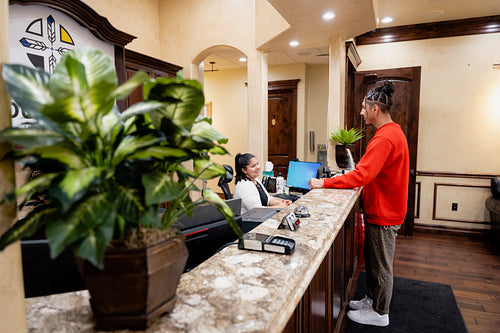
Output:
<svg viewBox="0 0 500 333">
<path fill-rule="evenodd" d="M 11 97 L 36 120 L 30 128 L 0 132 L 0 141 L 14 147 L 4 158 L 40 175 L 0 203 L 22 198 L 23 206 L 41 195 L 44 202 L 0 237 L 0 250 L 44 230 L 52 258 L 71 249 L 82 259 L 82 275 L 94 276 L 86 283 L 99 328 L 145 329 L 175 301 L 187 259 L 183 238 L 171 228 L 177 219 L 209 203 L 241 237 L 217 194 L 207 189 L 199 199 L 190 196 L 199 191 L 195 181 L 226 173 L 209 154 L 228 154 L 221 146 L 227 138 L 199 115 L 201 84 L 139 72 L 118 86 L 113 62 L 94 49 L 66 53 L 52 75 L 7 64 L 2 75 Z M 144 102 L 120 114 L 115 100 L 140 85 Z M 110 275 L 96 277 L 101 270 Z M 174 276 L 165 281 L 150 272 Z"/>
</svg>

